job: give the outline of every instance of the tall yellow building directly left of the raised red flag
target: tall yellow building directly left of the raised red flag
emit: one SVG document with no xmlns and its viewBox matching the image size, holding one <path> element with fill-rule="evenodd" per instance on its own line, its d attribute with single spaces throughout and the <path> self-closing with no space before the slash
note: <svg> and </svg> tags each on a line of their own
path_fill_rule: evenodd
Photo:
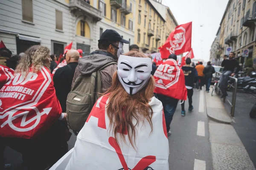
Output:
<svg viewBox="0 0 256 170">
<path fill-rule="evenodd" d="M 136 0 L 135 43 L 145 53 L 159 51 L 177 21 L 159 0 Z"/>
</svg>

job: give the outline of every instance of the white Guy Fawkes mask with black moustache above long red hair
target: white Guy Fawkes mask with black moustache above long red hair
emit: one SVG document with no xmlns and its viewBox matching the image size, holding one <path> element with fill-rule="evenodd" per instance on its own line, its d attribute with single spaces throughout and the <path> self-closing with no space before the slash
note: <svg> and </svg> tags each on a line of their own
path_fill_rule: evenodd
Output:
<svg viewBox="0 0 256 170">
<path fill-rule="evenodd" d="M 152 61 L 150 58 L 120 55 L 117 75 L 125 91 L 136 94 L 148 83 L 151 77 Z"/>
</svg>

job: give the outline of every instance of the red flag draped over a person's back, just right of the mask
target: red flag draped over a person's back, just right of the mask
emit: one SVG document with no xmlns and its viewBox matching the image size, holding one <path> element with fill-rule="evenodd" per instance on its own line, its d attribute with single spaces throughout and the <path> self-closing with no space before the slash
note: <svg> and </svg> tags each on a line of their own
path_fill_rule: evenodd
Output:
<svg viewBox="0 0 256 170">
<path fill-rule="evenodd" d="M 154 93 L 186 100 L 187 90 L 183 71 L 174 59 L 167 59 L 154 73 L 156 88 Z"/>
</svg>

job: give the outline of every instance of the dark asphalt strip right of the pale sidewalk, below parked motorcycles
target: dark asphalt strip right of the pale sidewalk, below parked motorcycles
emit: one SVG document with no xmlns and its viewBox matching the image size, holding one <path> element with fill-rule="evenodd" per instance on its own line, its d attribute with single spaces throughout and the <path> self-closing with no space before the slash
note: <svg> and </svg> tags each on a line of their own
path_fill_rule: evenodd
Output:
<svg viewBox="0 0 256 170">
<path fill-rule="evenodd" d="M 232 101 L 232 92 L 228 92 L 228 95 L 227 99 Z M 238 92 L 236 95 L 234 123 L 232 125 L 256 167 L 256 118 L 251 119 L 249 116 L 250 110 L 255 103 L 255 96 Z M 226 102 L 224 105 L 227 112 L 230 113 L 231 107 L 229 103 Z"/>
</svg>

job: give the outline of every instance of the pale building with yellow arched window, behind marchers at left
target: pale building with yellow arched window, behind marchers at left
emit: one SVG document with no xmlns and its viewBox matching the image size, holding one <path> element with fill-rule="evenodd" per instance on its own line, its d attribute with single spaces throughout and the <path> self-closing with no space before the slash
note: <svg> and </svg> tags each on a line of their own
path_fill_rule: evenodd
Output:
<svg viewBox="0 0 256 170">
<path fill-rule="evenodd" d="M 73 42 L 86 55 L 105 29 L 134 42 L 134 11 L 134 0 L 1 0 L 0 40 L 13 54 L 41 44 L 59 55 Z"/>
</svg>

